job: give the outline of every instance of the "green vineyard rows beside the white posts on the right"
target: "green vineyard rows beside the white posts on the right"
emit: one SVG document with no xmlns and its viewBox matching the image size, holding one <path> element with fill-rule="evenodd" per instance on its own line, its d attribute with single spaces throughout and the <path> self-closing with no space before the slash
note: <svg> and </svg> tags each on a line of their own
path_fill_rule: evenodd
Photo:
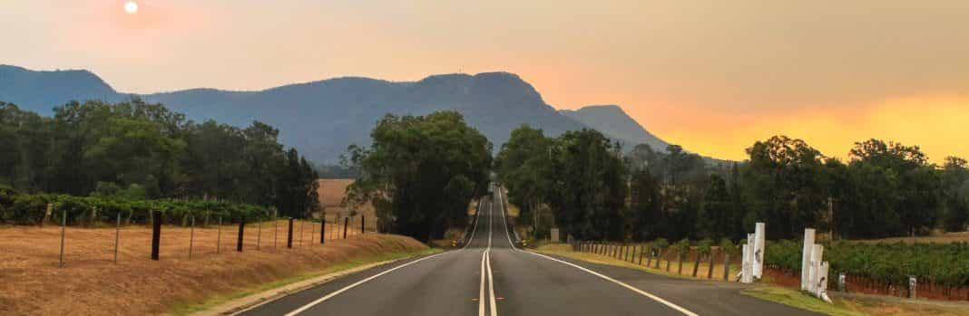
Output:
<svg viewBox="0 0 969 316">
<path fill-rule="evenodd" d="M 845 273 L 859 280 L 861 284 L 856 286 L 892 294 L 892 289 L 904 288 L 912 275 L 920 280 L 920 288 L 938 289 L 948 299 L 969 300 L 959 294 L 963 288 L 969 288 L 969 243 L 833 242 L 824 246 L 825 260 L 831 265 L 828 279 L 832 281 L 838 279 L 838 273 Z M 768 242 L 765 263 L 771 268 L 799 272 L 801 250 L 802 244 L 796 241 Z M 953 293 L 957 295 L 953 297 Z"/>
</svg>

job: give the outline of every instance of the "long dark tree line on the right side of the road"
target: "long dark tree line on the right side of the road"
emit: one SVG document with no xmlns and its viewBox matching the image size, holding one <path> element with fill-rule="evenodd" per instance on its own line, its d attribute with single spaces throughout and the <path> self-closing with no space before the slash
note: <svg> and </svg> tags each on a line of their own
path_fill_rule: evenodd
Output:
<svg viewBox="0 0 969 316">
<path fill-rule="evenodd" d="M 771 239 L 814 227 L 835 239 L 962 231 L 969 168 L 928 162 L 918 146 L 869 139 L 848 159 L 774 136 L 748 159 L 710 163 L 676 145 L 624 153 L 592 129 L 547 137 L 523 126 L 496 158 L 500 181 L 539 236 L 555 226 L 580 240 L 740 240 L 757 221 Z"/>
</svg>

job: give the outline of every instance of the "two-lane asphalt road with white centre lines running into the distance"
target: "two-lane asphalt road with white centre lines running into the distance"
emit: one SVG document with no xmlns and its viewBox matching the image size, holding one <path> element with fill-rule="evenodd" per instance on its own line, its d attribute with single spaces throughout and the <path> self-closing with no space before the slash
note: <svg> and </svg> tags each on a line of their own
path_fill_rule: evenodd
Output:
<svg viewBox="0 0 969 316">
<path fill-rule="evenodd" d="M 676 279 L 516 249 L 504 196 L 482 201 L 463 248 L 340 277 L 241 315 L 816 315 Z"/>
</svg>

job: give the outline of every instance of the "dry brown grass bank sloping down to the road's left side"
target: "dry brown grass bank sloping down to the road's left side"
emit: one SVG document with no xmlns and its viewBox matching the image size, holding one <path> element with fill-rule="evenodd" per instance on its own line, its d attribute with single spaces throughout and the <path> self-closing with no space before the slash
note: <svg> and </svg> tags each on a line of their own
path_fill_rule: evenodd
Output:
<svg viewBox="0 0 969 316">
<path fill-rule="evenodd" d="M 117 264 L 112 262 L 114 229 L 69 227 L 63 269 L 57 267 L 59 227 L 0 227 L 0 314 L 159 314 L 267 282 L 426 249 L 410 238 L 372 233 L 320 245 L 318 230 L 310 242 L 308 225 L 301 246 L 295 238 L 294 248 L 286 248 L 280 227 L 274 247 L 271 222 L 263 225 L 262 231 L 246 227 L 243 252 L 235 251 L 237 226 L 222 228 L 220 253 L 215 253 L 218 230 L 196 228 L 192 260 L 189 229 L 166 226 L 161 261 L 148 258 L 147 227 L 124 228 Z"/>
</svg>

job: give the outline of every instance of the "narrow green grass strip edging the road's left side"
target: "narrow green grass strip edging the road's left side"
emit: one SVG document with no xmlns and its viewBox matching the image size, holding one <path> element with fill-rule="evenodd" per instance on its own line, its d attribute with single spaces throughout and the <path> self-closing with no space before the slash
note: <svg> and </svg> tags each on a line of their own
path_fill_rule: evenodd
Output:
<svg viewBox="0 0 969 316">
<path fill-rule="evenodd" d="M 323 276 L 330 273 L 339 273 L 339 272 L 354 269 L 363 265 L 384 262 L 384 261 L 405 259 L 405 258 L 410 258 L 415 256 L 428 255 L 428 254 L 438 253 L 441 251 L 443 250 L 440 248 L 428 248 L 428 249 L 417 250 L 417 251 L 391 252 L 391 253 L 383 253 L 380 255 L 355 258 L 348 263 L 330 266 L 320 271 L 315 271 L 310 273 L 300 273 L 295 276 L 282 278 L 272 282 L 266 282 L 266 283 L 254 285 L 248 288 L 240 289 L 230 294 L 215 295 L 205 299 L 203 302 L 178 302 L 172 306 L 170 313 L 172 315 L 188 315 L 188 314 L 207 310 L 209 308 L 212 308 L 214 306 L 220 305 L 225 302 L 231 302 L 253 294 L 266 292 L 272 289 L 280 288 L 286 285 L 290 285 L 290 284 L 311 279 L 314 277 Z"/>
</svg>

